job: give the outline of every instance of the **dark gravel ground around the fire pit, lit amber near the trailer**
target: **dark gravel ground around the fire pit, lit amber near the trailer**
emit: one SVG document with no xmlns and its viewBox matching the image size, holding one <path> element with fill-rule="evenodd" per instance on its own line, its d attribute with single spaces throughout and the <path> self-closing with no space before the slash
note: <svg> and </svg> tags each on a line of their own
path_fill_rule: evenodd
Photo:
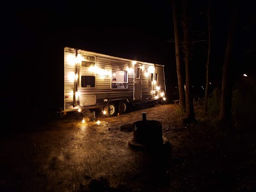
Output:
<svg viewBox="0 0 256 192">
<path fill-rule="evenodd" d="M 161 150 L 131 148 L 133 132 L 120 131 L 121 125 L 142 120 L 143 112 L 162 124 L 167 145 Z M 237 137 L 227 138 L 200 120 L 182 124 L 179 105 L 138 108 L 111 118 L 97 114 L 99 125 L 82 124 L 82 118 L 68 113 L 40 124 L 28 118 L 26 131 L 1 136 L 0 191 L 256 189 L 253 146 L 245 154 Z"/>
</svg>

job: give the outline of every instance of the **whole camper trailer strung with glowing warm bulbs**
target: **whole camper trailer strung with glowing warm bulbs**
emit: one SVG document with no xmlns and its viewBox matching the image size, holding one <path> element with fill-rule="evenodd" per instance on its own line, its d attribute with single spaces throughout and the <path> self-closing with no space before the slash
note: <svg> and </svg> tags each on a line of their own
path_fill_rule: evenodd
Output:
<svg viewBox="0 0 256 192">
<path fill-rule="evenodd" d="M 127 113 L 143 102 L 165 100 L 164 65 L 64 48 L 63 106 L 58 111 L 105 116 Z M 93 113 L 94 112 L 94 113 Z"/>
</svg>

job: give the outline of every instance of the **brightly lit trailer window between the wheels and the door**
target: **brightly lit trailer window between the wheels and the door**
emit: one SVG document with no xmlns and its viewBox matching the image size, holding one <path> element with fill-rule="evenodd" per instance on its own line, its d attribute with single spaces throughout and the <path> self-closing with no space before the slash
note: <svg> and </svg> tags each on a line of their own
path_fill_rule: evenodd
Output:
<svg viewBox="0 0 256 192">
<path fill-rule="evenodd" d="M 125 89 L 128 88 L 128 76 L 126 70 L 112 70 L 111 88 Z"/>
</svg>

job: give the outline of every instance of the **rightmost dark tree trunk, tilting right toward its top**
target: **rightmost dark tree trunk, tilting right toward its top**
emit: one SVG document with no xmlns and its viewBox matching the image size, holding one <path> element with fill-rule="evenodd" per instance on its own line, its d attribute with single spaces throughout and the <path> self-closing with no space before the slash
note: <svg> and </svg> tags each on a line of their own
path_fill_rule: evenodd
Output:
<svg viewBox="0 0 256 192">
<path fill-rule="evenodd" d="M 230 70 L 230 55 L 234 43 L 235 15 L 236 10 L 233 4 L 221 85 L 220 121 L 225 124 L 229 124 L 232 119 L 232 71 Z"/>
</svg>

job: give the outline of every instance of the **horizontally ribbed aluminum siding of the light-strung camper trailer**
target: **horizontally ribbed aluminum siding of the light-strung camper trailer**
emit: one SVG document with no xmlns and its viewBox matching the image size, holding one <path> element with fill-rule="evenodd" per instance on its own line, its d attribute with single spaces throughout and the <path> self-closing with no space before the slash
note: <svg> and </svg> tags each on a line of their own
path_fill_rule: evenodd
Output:
<svg viewBox="0 0 256 192">
<path fill-rule="evenodd" d="M 111 89 L 111 77 L 102 77 L 99 74 L 89 71 L 87 67 L 82 67 L 81 63 L 77 63 L 75 60 L 70 60 L 70 58 L 76 58 L 76 54 L 82 54 L 83 56 L 93 56 L 95 57 L 95 63 L 97 67 L 104 69 L 106 71 L 111 70 L 127 70 L 127 68 L 132 67 L 132 60 L 127 60 L 123 58 L 117 58 L 113 56 L 107 56 L 104 54 L 98 54 L 95 52 L 82 51 L 76 49 L 65 47 L 64 49 L 64 106 L 63 111 L 74 111 L 80 108 L 79 99 L 74 99 L 74 93 L 79 92 L 79 97 L 95 97 L 95 103 L 91 105 L 84 106 L 86 108 L 97 108 L 104 106 L 107 100 L 115 99 L 127 99 L 129 102 L 133 102 L 133 92 L 134 92 L 134 73 L 128 73 L 128 86 L 125 89 Z M 141 72 L 141 101 L 152 100 L 160 92 L 165 92 L 165 79 L 164 79 L 164 66 L 156 65 L 153 63 L 145 63 L 138 61 L 141 66 L 155 68 L 154 74 L 158 74 L 158 81 L 153 84 L 150 81 L 150 74 Z M 76 68 L 77 67 L 77 68 Z M 75 78 L 75 72 L 77 72 L 77 80 Z M 81 76 L 95 76 L 95 87 L 84 88 L 81 87 Z M 77 83 L 77 86 L 76 86 Z M 160 86 L 161 90 L 159 92 L 152 92 L 156 86 Z M 77 90 L 76 90 L 77 88 Z M 76 102 L 77 101 L 77 106 Z"/>
</svg>

